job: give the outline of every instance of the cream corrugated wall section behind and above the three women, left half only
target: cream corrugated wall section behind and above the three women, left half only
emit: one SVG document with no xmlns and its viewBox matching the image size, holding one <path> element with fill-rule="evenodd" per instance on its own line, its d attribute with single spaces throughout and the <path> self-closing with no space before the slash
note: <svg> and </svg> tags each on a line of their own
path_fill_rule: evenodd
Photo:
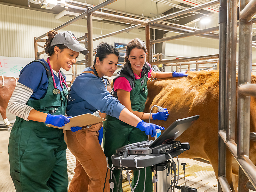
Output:
<svg viewBox="0 0 256 192">
<path fill-rule="evenodd" d="M 58 27 L 72 17 L 64 16 L 59 20 L 54 18 L 54 14 L 33 11 L 18 7 L 11 7 L 0 4 L 0 56 L 7 57 L 34 57 L 34 37 L 38 37 L 49 30 Z M 120 25 L 108 23 L 102 24 L 102 35 L 125 28 Z M 59 30 L 70 30 L 76 37 L 87 32 L 87 20 L 78 20 L 75 23 Z M 93 21 L 93 37 L 101 35 L 101 22 Z M 94 41 L 93 47 L 101 41 L 109 44 L 128 43 L 134 37 L 145 40 L 145 32 L 135 29 L 129 33 L 119 34 L 102 40 Z M 39 43 L 39 44 L 44 44 Z M 38 51 L 42 51 L 38 48 Z"/>
</svg>

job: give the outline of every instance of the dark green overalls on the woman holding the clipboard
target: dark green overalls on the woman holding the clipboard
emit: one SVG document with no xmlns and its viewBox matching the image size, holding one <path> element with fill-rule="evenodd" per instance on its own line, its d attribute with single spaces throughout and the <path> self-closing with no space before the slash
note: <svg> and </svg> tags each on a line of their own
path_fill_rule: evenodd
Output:
<svg viewBox="0 0 256 192">
<path fill-rule="evenodd" d="M 44 98 L 29 99 L 27 105 L 44 113 L 64 115 L 67 98 L 63 91 L 53 95 L 52 77 L 48 79 Z M 66 86 L 63 89 L 68 95 Z M 16 191 L 68 191 L 66 149 L 62 129 L 17 116 L 8 147 L 10 174 Z"/>
</svg>

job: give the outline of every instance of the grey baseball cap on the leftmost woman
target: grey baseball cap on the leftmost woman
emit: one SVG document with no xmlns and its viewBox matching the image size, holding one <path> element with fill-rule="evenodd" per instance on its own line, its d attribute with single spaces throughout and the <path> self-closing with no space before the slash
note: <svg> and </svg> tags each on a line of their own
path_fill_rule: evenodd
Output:
<svg viewBox="0 0 256 192">
<path fill-rule="evenodd" d="M 89 52 L 87 49 L 80 45 L 76 36 L 71 31 L 64 31 L 56 34 L 52 39 L 51 46 L 58 44 L 64 44 L 72 51 L 80 52 L 84 55 L 87 55 Z"/>
</svg>

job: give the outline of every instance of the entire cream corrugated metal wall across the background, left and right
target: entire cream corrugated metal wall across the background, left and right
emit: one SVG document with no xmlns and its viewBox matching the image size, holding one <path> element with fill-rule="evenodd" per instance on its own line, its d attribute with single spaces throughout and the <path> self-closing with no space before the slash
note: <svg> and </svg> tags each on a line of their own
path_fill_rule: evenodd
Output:
<svg viewBox="0 0 256 192">
<path fill-rule="evenodd" d="M 51 13 L 44 13 L 0 4 L 0 56 L 33 58 L 33 38 L 48 32 L 49 30 L 72 18 L 64 16 L 59 20 L 56 20 L 54 16 L 55 15 Z M 93 21 L 93 37 L 98 37 L 101 35 L 101 28 L 102 35 L 104 35 L 121 30 L 125 27 L 101 23 L 101 21 Z M 87 20 L 78 20 L 60 31 L 64 30 L 72 31 L 76 37 L 83 36 L 84 33 L 87 32 Z M 174 35 L 178 34 L 174 32 L 167 33 L 167 37 Z M 114 44 L 114 42 L 128 43 L 135 37 L 138 37 L 144 41 L 145 31 L 135 29 L 129 31 L 129 33 L 122 33 L 102 40 L 94 41 L 93 47 L 96 47 L 101 41 L 109 44 Z M 44 45 L 43 42 L 40 42 L 39 44 Z M 38 51 L 43 51 L 43 49 L 38 47 Z M 219 41 L 216 39 L 193 36 L 166 42 L 166 55 L 195 57 L 218 53 Z M 41 58 L 46 57 L 46 55 L 41 56 Z M 82 59 L 83 55 L 80 55 L 78 60 Z M 253 48 L 252 62 L 256 63 L 256 48 Z M 83 69 L 84 66 L 78 66 L 78 73 L 80 73 Z"/>
</svg>

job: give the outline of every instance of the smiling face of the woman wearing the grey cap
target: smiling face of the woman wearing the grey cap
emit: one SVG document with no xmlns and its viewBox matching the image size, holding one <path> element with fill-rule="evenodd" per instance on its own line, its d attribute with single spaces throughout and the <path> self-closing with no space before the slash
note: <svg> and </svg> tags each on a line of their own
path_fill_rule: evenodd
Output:
<svg viewBox="0 0 256 192">
<path fill-rule="evenodd" d="M 57 67 L 63 68 L 66 71 L 68 71 L 72 67 L 72 65 L 76 63 L 76 59 L 79 55 L 79 52 L 75 52 L 67 48 L 67 49 L 58 51 L 57 54 L 58 54 Z"/>
</svg>

